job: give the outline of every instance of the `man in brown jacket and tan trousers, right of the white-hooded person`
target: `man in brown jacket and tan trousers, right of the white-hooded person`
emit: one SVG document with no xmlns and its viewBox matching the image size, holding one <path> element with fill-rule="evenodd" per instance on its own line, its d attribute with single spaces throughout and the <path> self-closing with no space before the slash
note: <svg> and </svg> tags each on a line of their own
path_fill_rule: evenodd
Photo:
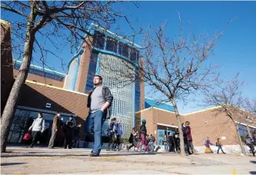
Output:
<svg viewBox="0 0 256 175">
<path fill-rule="evenodd" d="M 53 123 L 52 123 L 52 137 L 49 141 L 49 144 L 48 144 L 48 148 L 49 149 L 52 149 L 55 145 L 55 139 L 56 139 L 56 135 L 57 135 L 57 132 L 58 130 L 61 129 L 62 127 L 62 121 L 59 119 L 59 117 L 61 116 L 61 113 L 57 113 L 55 115 L 55 117 L 53 118 Z"/>
</svg>

